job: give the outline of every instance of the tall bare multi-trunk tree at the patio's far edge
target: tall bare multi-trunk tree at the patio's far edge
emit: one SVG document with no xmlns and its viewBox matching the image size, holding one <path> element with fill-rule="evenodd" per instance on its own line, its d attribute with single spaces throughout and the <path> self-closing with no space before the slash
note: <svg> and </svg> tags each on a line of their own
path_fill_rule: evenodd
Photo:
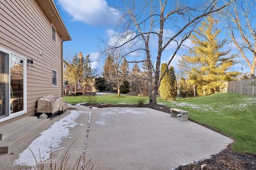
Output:
<svg viewBox="0 0 256 170">
<path fill-rule="evenodd" d="M 106 51 L 122 49 L 125 53 L 123 57 L 131 60 L 130 62 L 146 61 L 150 104 L 156 104 L 160 82 L 168 70 L 166 69 L 160 77 L 163 51 L 168 48 L 174 50 L 167 63 L 168 68 L 184 41 L 202 18 L 220 11 L 233 2 L 233 0 L 209 0 L 196 4 L 176 0 L 122 1 L 124 6 L 120 10 L 125 14 L 121 19 L 124 24 L 120 26 L 124 30 L 110 37 L 110 42 L 106 43 Z M 138 58 L 131 59 L 134 53 L 143 53 L 145 57 L 141 61 L 135 61 Z"/>
</svg>

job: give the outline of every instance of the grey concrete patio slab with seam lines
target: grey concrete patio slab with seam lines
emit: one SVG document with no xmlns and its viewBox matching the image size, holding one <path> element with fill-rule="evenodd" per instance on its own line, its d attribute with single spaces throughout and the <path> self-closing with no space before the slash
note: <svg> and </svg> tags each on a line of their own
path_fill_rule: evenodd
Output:
<svg viewBox="0 0 256 170">
<path fill-rule="evenodd" d="M 169 170 L 208 158 L 233 142 L 201 125 L 149 108 L 74 107 L 77 109 L 55 115 L 28 144 L 42 134 L 47 135 L 42 132 L 65 122 L 64 118 L 71 114 L 76 114 L 75 123 L 68 123 L 72 124 L 66 127 L 69 135 L 61 137 L 59 147 L 53 148 L 53 156 L 59 158 L 74 142 L 69 149 L 72 159 L 85 156 L 88 161 L 91 158 L 94 168 L 102 170 Z M 50 139 L 49 145 L 54 143 Z M 37 145 L 31 144 L 33 146 Z M 23 143 L 14 154 L 0 154 L 0 169 L 7 169 L 9 165 L 25 169 L 26 166 L 14 164 L 14 160 L 25 159 L 21 156 L 25 149 Z"/>
</svg>

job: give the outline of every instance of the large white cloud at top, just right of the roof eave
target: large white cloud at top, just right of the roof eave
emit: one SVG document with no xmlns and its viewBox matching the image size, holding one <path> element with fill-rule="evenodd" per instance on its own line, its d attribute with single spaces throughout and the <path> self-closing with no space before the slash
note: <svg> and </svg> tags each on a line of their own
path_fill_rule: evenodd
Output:
<svg viewBox="0 0 256 170">
<path fill-rule="evenodd" d="M 88 25 L 116 25 L 120 16 L 106 0 L 58 0 L 57 3 L 74 21 Z"/>
</svg>

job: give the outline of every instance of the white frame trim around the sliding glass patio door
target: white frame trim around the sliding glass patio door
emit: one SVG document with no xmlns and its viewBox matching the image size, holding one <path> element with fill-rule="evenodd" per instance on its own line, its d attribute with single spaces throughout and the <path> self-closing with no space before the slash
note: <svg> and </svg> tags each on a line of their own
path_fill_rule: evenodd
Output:
<svg viewBox="0 0 256 170">
<path fill-rule="evenodd" d="M 9 59 L 10 59 L 10 55 L 14 56 L 14 57 L 17 57 L 17 58 L 20 58 L 22 60 L 24 60 L 24 63 L 23 63 L 23 71 L 24 71 L 24 75 L 23 75 L 23 83 L 24 83 L 24 100 L 23 100 L 23 110 L 22 111 L 18 111 L 16 113 L 10 113 L 10 109 L 9 109 L 9 116 L 7 117 L 4 117 L 2 119 L 0 119 L 0 122 L 3 122 L 3 121 L 6 121 L 6 120 L 9 120 L 9 119 L 12 119 L 14 117 L 17 117 L 17 116 L 20 116 L 20 115 L 24 115 L 27 113 L 27 65 L 26 65 L 26 58 L 25 57 L 22 57 L 21 55 L 18 55 L 16 53 L 13 53 L 12 51 L 9 51 L 7 49 L 4 49 L 2 47 L 0 47 L 0 51 L 4 52 L 4 53 L 7 53 L 9 55 Z M 10 72 L 10 64 L 9 64 L 9 72 Z M 10 87 L 10 77 L 9 77 L 9 87 Z M 11 90 L 9 88 L 9 94 L 11 94 Z M 10 101 L 9 101 L 10 103 Z"/>
</svg>

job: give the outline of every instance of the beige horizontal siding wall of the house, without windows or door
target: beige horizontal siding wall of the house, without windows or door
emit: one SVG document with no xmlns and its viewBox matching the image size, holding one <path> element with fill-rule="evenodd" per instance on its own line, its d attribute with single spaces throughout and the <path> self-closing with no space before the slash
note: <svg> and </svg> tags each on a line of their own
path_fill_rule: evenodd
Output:
<svg viewBox="0 0 256 170">
<path fill-rule="evenodd" d="M 58 33 L 56 43 L 52 40 L 51 24 L 34 0 L 0 1 L 0 47 L 35 63 L 27 66 L 27 113 L 20 117 L 35 115 L 38 98 L 62 96 L 62 42 Z M 52 68 L 58 73 L 57 87 L 52 86 Z"/>
</svg>

